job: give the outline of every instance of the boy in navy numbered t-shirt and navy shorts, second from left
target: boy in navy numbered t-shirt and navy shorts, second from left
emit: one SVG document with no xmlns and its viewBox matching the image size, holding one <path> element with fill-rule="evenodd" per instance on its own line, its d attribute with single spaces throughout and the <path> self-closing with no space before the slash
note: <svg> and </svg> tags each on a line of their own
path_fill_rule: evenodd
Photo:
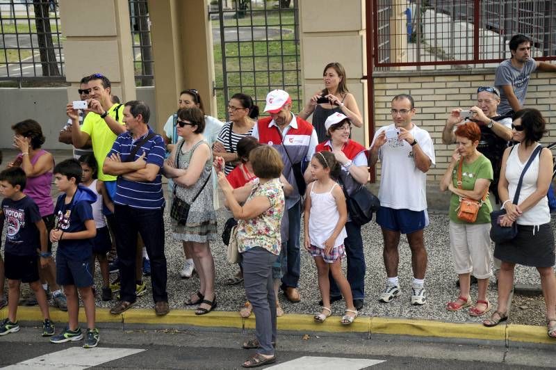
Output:
<svg viewBox="0 0 556 370">
<path fill-rule="evenodd" d="M 97 195 L 79 185 L 81 175 L 81 165 L 75 159 L 66 159 L 54 167 L 54 183 L 62 194 L 54 208 L 56 227 L 50 232 L 50 240 L 58 242 L 56 282 L 64 287 L 69 322 L 50 341 L 63 343 L 83 339 L 79 328 L 79 291 L 88 328 L 83 347 L 92 348 L 99 343 L 99 330 L 95 328 L 95 295 L 92 293 L 94 265 L 91 264 L 92 241 L 97 234 L 91 204 L 97 200 Z"/>
</svg>

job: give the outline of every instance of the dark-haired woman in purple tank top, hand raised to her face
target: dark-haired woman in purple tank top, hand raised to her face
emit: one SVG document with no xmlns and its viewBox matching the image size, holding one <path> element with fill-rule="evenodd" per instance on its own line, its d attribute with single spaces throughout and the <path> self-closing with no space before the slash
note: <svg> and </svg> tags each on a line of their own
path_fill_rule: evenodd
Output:
<svg viewBox="0 0 556 370">
<path fill-rule="evenodd" d="M 52 170 L 54 170 L 54 156 L 51 153 L 42 150 L 44 144 L 44 135 L 42 128 L 35 120 L 24 120 L 12 126 L 14 131 L 13 146 L 20 153 L 14 161 L 8 163 L 8 167 L 19 166 L 27 175 L 27 185 L 23 191 L 25 195 L 33 198 L 39 207 L 40 216 L 47 226 L 47 232 L 54 228 L 54 202 L 50 195 L 52 184 Z M 48 241 L 48 252 L 52 250 L 52 243 Z M 48 283 L 52 291 L 54 303 L 59 309 L 67 310 L 67 303 L 64 293 L 56 284 L 56 264 L 54 259 L 47 267 L 41 268 L 39 271 L 40 280 L 43 287 Z M 48 288 L 47 296 L 48 294 Z M 36 305 L 35 298 L 29 298 L 26 305 Z"/>
</svg>

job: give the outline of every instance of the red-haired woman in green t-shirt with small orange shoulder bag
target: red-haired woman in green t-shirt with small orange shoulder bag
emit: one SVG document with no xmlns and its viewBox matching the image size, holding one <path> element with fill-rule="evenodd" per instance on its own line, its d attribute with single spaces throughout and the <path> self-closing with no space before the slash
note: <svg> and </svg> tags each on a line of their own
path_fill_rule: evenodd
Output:
<svg viewBox="0 0 556 370">
<path fill-rule="evenodd" d="M 453 111 L 452 116 L 459 116 Z M 477 150 L 481 131 L 475 122 L 459 124 L 455 131 L 456 149 L 452 160 L 440 182 L 440 190 L 452 192 L 450 198 L 450 249 L 456 273 L 459 275 L 459 296 L 449 302 L 448 311 L 459 311 L 471 306 L 469 295 L 471 272 L 478 280 L 477 303 L 469 309 L 471 316 L 481 316 L 491 309 L 487 289 L 491 271 L 491 202 L 488 200 L 489 184 L 492 181 L 492 166 L 489 159 Z M 475 222 L 470 223 L 457 217 L 461 198 L 480 202 Z"/>
</svg>

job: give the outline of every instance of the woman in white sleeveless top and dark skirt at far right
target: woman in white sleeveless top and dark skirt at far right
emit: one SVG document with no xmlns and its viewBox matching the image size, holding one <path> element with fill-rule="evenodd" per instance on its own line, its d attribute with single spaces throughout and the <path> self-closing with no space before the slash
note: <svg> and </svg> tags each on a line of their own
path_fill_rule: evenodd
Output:
<svg viewBox="0 0 556 370">
<path fill-rule="evenodd" d="M 496 243 L 494 248 L 494 257 L 502 261 L 498 277 L 498 307 L 490 319 L 483 321 L 483 325 L 496 326 L 507 319 L 508 297 L 514 284 L 514 268 L 516 264 L 533 266 L 541 275 L 548 337 L 556 338 L 554 236 L 546 198 L 552 179 L 552 153 L 547 148 L 543 148 L 539 154 L 534 152 L 540 145 L 539 140 L 546 133 L 546 122 L 541 113 L 532 108 L 516 112 L 513 118 L 513 140 L 518 144 L 504 152 L 498 191 L 503 200 L 502 207 L 507 211 L 500 220 L 500 225 L 511 226 L 517 223 L 518 233 L 511 241 Z M 514 204 L 519 178 L 533 153 L 534 159 L 523 176 L 519 198 L 517 204 Z"/>
</svg>

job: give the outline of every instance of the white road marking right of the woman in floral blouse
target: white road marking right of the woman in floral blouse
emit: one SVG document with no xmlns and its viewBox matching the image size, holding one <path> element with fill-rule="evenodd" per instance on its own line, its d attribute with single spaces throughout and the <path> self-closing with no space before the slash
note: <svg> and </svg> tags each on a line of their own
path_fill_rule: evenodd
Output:
<svg viewBox="0 0 556 370">
<path fill-rule="evenodd" d="M 303 356 L 266 369 L 272 370 L 359 370 L 384 362 L 367 358 Z"/>
</svg>

